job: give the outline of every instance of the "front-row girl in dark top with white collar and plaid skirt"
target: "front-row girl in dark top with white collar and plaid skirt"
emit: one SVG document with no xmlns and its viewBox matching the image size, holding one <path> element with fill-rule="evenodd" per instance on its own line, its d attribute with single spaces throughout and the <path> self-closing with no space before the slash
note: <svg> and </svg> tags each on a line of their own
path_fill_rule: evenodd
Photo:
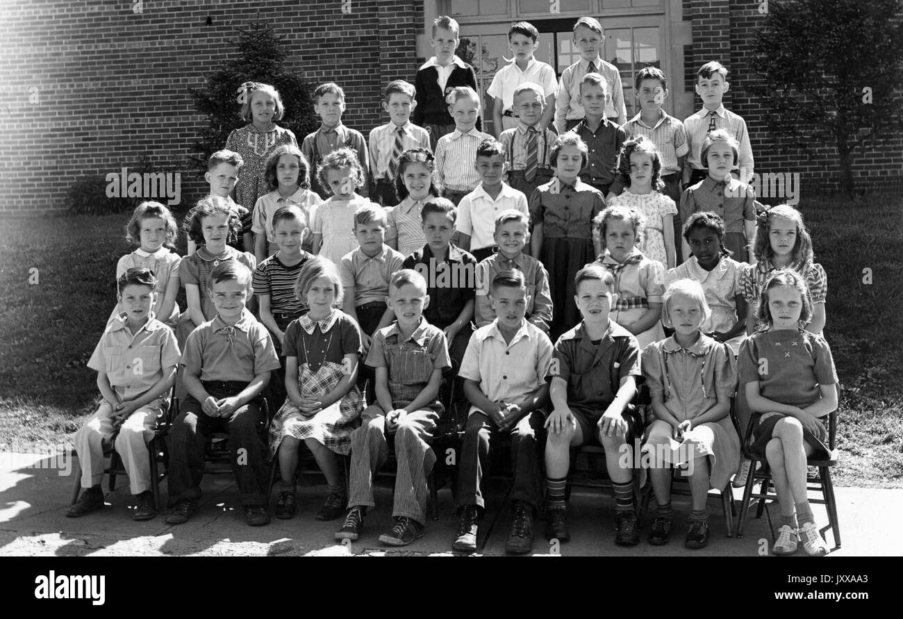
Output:
<svg viewBox="0 0 903 619">
<path fill-rule="evenodd" d="M 301 269 L 295 292 L 310 311 L 285 330 L 285 389 L 288 399 L 270 426 L 270 455 L 278 456 L 283 483 L 276 518 L 292 518 L 295 470 L 301 443 L 308 446 L 326 477 L 329 495 L 318 521 L 345 512 L 348 489 L 339 456 L 348 455 L 351 431 L 358 427 L 364 398 L 356 387 L 360 332 L 341 303 L 342 286 L 335 265 L 312 258 Z"/>
</svg>

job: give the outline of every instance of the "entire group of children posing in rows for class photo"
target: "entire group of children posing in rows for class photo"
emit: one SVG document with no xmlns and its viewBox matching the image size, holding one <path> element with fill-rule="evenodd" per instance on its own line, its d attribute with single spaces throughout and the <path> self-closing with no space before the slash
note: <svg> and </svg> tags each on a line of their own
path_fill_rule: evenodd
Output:
<svg viewBox="0 0 903 619">
<path fill-rule="evenodd" d="M 721 106 L 727 71 L 703 66 L 703 110 L 681 123 L 662 109 L 664 73 L 639 70 L 641 112 L 628 121 L 597 20 L 575 24 L 581 60 L 559 84 L 533 58 L 537 36 L 525 22 L 508 33 L 514 60 L 489 87 L 498 140 L 480 131 L 449 17 L 433 25 L 436 55 L 415 86 L 387 86 L 389 122 L 368 145 L 341 124 L 336 84 L 315 90 L 321 127 L 300 148 L 275 124 L 278 92 L 245 84 L 248 124 L 209 158 L 209 196 L 184 223 L 188 255 L 169 249 L 178 229 L 162 204 L 142 203 L 128 223 L 137 249 L 116 267 L 116 310 L 88 363 L 103 402 L 76 436 L 85 492 L 70 516 L 103 505 L 112 446 L 135 519 L 154 517 L 142 450 L 175 384 L 168 522 L 195 511 L 205 446 L 227 431 L 248 524 L 269 521 L 267 460 L 283 480 L 275 516 L 295 515 L 303 442 L 328 485 L 316 518 L 344 515 L 336 539 L 358 539 L 391 442 L 395 525 L 380 539 L 409 544 L 424 535 L 446 380 L 470 403 L 454 549 L 477 547 L 493 434 L 511 439 L 508 552 L 530 551 L 542 515 L 547 539 L 569 539 L 565 485 L 573 449 L 587 444 L 605 450 L 616 543 L 639 539 L 637 472 L 623 464 L 639 448 L 666 455 L 650 471 L 649 542 L 669 539 L 672 469 L 684 466 L 685 545 L 703 548 L 710 486 L 749 474 L 736 396 L 777 489 L 773 551 L 802 540 L 808 554 L 827 552 L 805 498 L 805 457 L 825 449 L 820 417 L 837 403 L 821 336 L 826 277 L 799 212 L 763 207 L 732 175 L 749 178 L 752 155 L 742 118 Z"/>
</svg>

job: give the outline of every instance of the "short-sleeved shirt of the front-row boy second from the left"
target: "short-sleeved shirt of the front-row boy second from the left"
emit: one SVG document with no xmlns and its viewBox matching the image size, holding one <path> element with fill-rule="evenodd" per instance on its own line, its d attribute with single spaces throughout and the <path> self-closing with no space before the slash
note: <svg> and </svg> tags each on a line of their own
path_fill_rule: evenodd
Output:
<svg viewBox="0 0 903 619">
<path fill-rule="evenodd" d="M 217 314 L 192 331 L 182 365 L 200 380 L 240 382 L 280 367 L 270 333 L 247 309 L 235 325 L 226 324 Z"/>
</svg>

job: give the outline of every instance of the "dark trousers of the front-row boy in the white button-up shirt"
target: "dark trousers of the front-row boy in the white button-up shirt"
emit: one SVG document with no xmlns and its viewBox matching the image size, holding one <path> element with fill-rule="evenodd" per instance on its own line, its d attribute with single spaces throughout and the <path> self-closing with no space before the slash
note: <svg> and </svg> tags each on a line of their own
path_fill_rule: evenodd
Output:
<svg viewBox="0 0 903 619">
<path fill-rule="evenodd" d="M 514 469 L 514 490 L 511 498 L 525 502 L 538 515 L 543 504 L 540 458 L 545 451 L 545 413 L 535 410 L 509 430 L 511 435 L 511 466 Z M 485 508 L 481 490 L 483 475 L 489 471 L 489 435 L 498 433 L 489 416 L 474 412 L 467 419 L 461 458 L 458 461 L 458 505 Z"/>
</svg>

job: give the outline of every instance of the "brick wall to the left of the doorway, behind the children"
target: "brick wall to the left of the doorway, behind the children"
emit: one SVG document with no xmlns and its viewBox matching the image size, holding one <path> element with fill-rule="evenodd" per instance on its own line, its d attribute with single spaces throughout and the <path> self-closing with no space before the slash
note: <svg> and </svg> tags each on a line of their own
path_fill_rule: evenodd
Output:
<svg viewBox="0 0 903 619">
<path fill-rule="evenodd" d="M 204 185 L 185 161 L 203 118 L 188 89 L 234 56 L 236 28 L 255 19 L 288 37 L 290 70 L 340 83 L 345 122 L 366 135 L 383 121 L 386 82 L 414 79 L 414 5 L 422 15 L 422 4 L 5 0 L 0 214 L 61 211 L 74 180 L 143 156 L 185 172 L 183 205 L 200 197 Z"/>
</svg>

